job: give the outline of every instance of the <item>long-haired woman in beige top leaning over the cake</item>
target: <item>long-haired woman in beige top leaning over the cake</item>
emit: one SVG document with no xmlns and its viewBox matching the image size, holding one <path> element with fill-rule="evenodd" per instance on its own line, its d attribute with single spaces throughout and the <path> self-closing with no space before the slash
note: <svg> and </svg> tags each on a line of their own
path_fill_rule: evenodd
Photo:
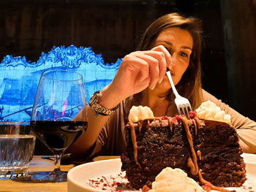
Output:
<svg viewBox="0 0 256 192">
<path fill-rule="evenodd" d="M 201 88 L 200 43 L 200 23 L 195 18 L 171 13 L 155 20 L 138 51 L 124 57 L 113 81 L 80 112 L 77 120 L 87 118 L 88 128 L 69 152 L 87 157 L 121 154 L 126 147 L 124 126 L 133 105 L 150 107 L 156 117 L 178 114 L 165 75 L 170 70 L 178 93 L 189 99 L 193 110 L 202 101 L 213 101 L 231 115 L 244 152 L 256 153 L 256 123 Z"/>
</svg>

